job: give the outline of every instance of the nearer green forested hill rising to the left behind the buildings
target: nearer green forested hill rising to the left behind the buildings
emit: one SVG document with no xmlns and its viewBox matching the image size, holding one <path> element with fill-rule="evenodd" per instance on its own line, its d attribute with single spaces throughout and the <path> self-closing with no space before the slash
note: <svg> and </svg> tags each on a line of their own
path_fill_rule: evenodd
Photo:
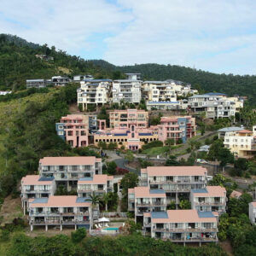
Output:
<svg viewBox="0 0 256 256">
<path fill-rule="evenodd" d="M 44 61 L 35 55 L 54 57 Z M 26 79 L 50 79 L 54 75 L 90 73 L 96 78 L 113 78 L 114 72 L 96 67 L 92 61 L 84 61 L 79 56 L 68 55 L 56 50 L 26 42 L 22 38 L 0 34 L 0 90 L 20 90 L 26 87 Z"/>
</svg>

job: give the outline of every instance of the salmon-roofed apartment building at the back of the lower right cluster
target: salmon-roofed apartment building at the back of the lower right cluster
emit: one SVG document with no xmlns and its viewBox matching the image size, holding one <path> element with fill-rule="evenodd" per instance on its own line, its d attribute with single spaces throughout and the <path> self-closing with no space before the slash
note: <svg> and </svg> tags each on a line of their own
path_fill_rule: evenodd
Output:
<svg viewBox="0 0 256 256">
<path fill-rule="evenodd" d="M 179 204 L 190 198 L 191 189 L 205 189 L 207 169 L 201 166 L 148 166 L 141 169 L 140 186 L 164 189 L 167 202 Z"/>
</svg>

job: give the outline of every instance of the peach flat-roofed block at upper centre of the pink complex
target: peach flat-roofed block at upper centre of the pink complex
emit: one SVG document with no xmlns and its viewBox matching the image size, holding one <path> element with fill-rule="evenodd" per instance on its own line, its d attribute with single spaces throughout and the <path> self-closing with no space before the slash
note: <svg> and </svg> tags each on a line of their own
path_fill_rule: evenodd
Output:
<svg viewBox="0 0 256 256">
<path fill-rule="evenodd" d="M 110 111 L 109 123 L 114 129 L 130 129 L 131 125 L 148 128 L 148 112 L 137 109 Z"/>
</svg>

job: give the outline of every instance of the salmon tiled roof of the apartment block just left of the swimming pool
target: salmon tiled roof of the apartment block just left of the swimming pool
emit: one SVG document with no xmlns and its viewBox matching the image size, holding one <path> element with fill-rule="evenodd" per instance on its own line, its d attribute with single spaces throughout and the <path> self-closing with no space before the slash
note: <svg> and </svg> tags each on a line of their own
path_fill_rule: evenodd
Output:
<svg viewBox="0 0 256 256">
<path fill-rule="evenodd" d="M 77 195 L 50 195 L 48 201 L 38 202 L 34 199 L 30 207 L 90 207 L 89 201 L 79 201 Z"/>
</svg>

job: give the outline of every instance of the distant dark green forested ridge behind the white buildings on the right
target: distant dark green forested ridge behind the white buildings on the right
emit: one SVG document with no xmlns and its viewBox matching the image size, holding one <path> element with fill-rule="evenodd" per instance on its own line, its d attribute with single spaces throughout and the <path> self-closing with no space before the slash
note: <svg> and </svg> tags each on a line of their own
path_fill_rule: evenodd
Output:
<svg viewBox="0 0 256 256">
<path fill-rule="evenodd" d="M 143 79 L 175 79 L 192 84 L 194 88 L 205 91 L 218 91 L 230 96 L 248 96 L 250 102 L 253 103 L 256 99 L 256 76 L 216 74 L 175 65 L 141 64 L 115 67 L 107 61 L 93 60 L 93 62 L 97 66 L 108 70 L 115 69 L 122 73 L 142 73 Z"/>
</svg>

